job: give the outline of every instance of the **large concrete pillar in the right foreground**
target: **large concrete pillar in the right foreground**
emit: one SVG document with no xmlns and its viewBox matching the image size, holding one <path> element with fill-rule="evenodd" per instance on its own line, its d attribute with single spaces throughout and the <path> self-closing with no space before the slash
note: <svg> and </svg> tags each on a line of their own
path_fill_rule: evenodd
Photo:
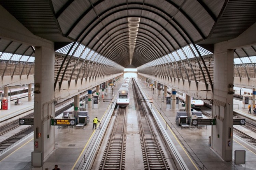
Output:
<svg viewBox="0 0 256 170">
<path fill-rule="evenodd" d="M 225 161 L 232 161 L 233 146 L 233 95 L 228 94 L 233 84 L 234 51 L 225 49 L 225 44 L 214 45 L 214 86 L 212 116 L 212 149 Z"/>
</svg>

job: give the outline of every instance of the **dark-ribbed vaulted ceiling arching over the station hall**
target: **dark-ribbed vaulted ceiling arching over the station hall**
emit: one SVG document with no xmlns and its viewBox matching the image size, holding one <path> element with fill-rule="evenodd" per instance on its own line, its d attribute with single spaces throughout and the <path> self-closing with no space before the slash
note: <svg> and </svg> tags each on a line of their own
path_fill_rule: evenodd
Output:
<svg viewBox="0 0 256 170">
<path fill-rule="evenodd" d="M 256 21 L 255 0 L 0 0 L 0 4 L 56 47 L 78 41 L 123 67 L 136 68 L 188 44 L 210 49 Z"/>
</svg>

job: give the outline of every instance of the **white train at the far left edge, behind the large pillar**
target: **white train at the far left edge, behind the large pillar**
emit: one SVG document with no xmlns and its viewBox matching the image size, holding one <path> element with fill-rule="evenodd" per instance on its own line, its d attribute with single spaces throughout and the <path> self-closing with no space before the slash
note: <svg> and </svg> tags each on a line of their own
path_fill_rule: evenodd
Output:
<svg viewBox="0 0 256 170">
<path fill-rule="evenodd" d="M 34 95 L 34 86 L 32 85 L 31 95 Z M 4 96 L 4 89 L 0 89 L 0 96 Z M 28 97 L 28 86 L 16 86 L 9 87 L 8 96 L 11 97 L 11 100 L 17 100 L 20 98 Z"/>
</svg>

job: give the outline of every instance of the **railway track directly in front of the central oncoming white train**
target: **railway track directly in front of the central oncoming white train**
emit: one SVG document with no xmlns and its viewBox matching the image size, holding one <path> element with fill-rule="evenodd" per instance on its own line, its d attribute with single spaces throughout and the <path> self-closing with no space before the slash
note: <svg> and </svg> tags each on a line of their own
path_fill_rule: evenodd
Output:
<svg viewBox="0 0 256 170">
<path fill-rule="evenodd" d="M 126 107 L 119 107 L 99 169 L 125 169 L 126 112 Z"/>
</svg>

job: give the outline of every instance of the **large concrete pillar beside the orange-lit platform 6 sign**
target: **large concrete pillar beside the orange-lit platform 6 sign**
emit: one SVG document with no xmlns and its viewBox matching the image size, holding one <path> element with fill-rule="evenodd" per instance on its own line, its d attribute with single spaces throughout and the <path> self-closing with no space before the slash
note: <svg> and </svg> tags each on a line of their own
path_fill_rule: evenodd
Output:
<svg viewBox="0 0 256 170">
<path fill-rule="evenodd" d="M 35 152 L 42 152 L 43 160 L 55 147 L 54 126 L 51 126 L 51 117 L 55 117 L 54 54 L 54 47 L 35 47 L 33 146 Z"/>
</svg>

